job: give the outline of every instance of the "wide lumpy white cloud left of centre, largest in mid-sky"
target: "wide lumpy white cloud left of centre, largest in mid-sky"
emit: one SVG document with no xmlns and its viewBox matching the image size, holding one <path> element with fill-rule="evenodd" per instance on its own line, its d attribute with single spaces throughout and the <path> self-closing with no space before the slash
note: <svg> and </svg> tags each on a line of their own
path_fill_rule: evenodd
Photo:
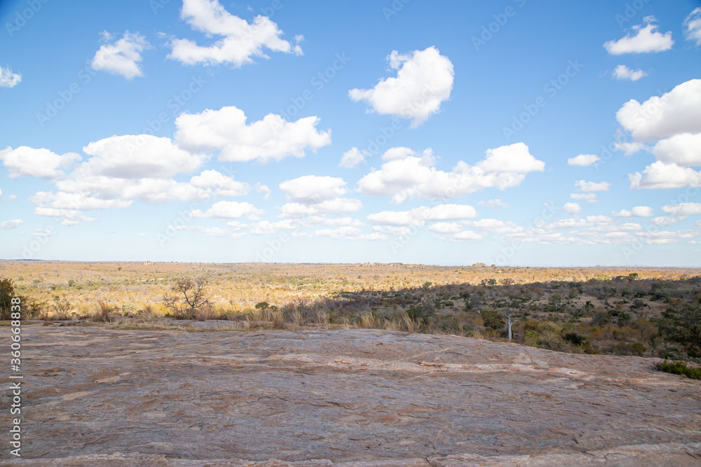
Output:
<svg viewBox="0 0 701 467">
<path fill-rule="evenodd" d="M 234 106 L 218 111 L 183 113 L 175 119 L 178 146 L 188 151 L 219 149 L 219 160 L 281 160 L 288 156 L 304 157 L 305 149 L 316 151 L 331 144 L 331 132 L 318 132 L 318 117 L 287 122 L 269 113 L 263 120 L 246 125 L 246 116 Z"/>
</svg>

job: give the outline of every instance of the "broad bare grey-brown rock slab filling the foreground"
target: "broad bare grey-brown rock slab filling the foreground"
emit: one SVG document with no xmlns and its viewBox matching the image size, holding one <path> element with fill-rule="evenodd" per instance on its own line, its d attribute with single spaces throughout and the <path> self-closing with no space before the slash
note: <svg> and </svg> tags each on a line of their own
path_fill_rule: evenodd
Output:
<svg viewBox="0 0 701 467">
<path fill-rule="evenodd" d="M 22 337 L 4 465 L 701 465 L 701 382 L 649 358 L 359 329 Z"/>
</svg>

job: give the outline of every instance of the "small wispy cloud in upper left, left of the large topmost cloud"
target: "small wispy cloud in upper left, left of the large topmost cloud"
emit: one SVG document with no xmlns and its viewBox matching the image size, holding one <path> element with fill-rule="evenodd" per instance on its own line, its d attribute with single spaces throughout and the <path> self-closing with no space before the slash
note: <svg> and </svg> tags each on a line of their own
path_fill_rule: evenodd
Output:
<svg viewBox="0 0 701 467">
<path fill-rule="evenodd" d="M 103 32 L 105 41 L 111 41 L 112 36 Z M 122 39 L 114 44 L 106 43 L 95 53 L 90 66 L 96 71 L 107 71 L 111 74 L 121 75 L 127 79 L 136 76 L 144 76 L 139 64 L 142 61 L 141 52 L 151 48 L 151 44 L 139 33 L 125 32 Z"/>
</svg>

